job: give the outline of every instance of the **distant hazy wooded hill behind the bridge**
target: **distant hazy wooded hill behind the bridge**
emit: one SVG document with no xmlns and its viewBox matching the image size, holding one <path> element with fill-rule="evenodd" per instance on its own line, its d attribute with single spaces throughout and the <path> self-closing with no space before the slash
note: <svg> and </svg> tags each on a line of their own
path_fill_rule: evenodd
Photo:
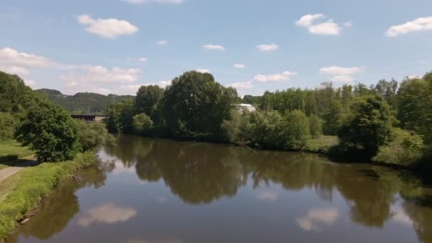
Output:
<svg viewBox="0 0 432 243">
<path fill-rule="evenodd" d="M 60 105 L 73 114 L 102 114 L 109 104 L 134 98 L 132 95 L 100 95 L 96 93 L 80 92 L 75 95 L 63 95 L 58 90 L 36 90 L 45 94 L 51 102 Z"/>
</svg>

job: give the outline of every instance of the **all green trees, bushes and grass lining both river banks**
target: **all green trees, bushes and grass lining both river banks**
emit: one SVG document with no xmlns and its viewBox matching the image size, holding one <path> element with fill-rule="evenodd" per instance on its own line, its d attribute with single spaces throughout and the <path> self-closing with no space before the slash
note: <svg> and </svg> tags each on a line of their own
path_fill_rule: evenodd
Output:
<svg viewBox="0 0 432 243">
<path fill-rule="evenodd" d="M 240 109 L 240 102 L 254 104 L 257 112 Z M 359 83 L 335 88 L 326 82 L 313 90 L 288 89 L 243 99 L 210 73 L 185 72 L 166 89 L 142 86 L 133 99 L 110 104 L 104 120 L 107 130 L 103 124 L 72 120 L 21 78 L 0 72 L 0 112 L 1 140 L 17 139 L 38 161 L 55 162 L 11 178 L 16 183 L 0 206 L 0 238 L 60 180 L 97 161 L 92 149 L 110 140 L 107 130 L 318 151 L 347 161 L 431 169 L 432 72 L 400 84 L 380 80 L 370 87 Z"/>
</svg>

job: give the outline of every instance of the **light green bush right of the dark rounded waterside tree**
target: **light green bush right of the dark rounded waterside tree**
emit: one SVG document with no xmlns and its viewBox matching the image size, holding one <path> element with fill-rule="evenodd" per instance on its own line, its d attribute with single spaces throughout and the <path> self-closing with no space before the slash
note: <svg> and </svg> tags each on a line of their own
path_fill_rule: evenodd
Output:
<svg viewBox="0 0 432 243">
<path fill-rule="evenodd" d="M 423 156 L 423 141 L 420 136 L 399 128 L 392 130 L 392 141 L 379 147 L 374 161 L 399 166 L 411 166 Z"/>
</svg>

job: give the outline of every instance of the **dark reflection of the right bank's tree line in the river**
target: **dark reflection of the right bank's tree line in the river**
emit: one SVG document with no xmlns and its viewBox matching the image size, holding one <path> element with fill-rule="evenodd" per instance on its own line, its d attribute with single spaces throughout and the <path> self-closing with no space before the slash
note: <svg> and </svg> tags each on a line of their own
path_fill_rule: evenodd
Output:
<svg viewBox="0 0 432 243">
<path fill-rule="evenodd" d="M 392 205 L 400 196 L 418 198 L 423 193 L 419 180 L 409 173 L 379 166 L 330 163 L 310 153 L 131 136 L 121 136 L 119 146 L 107 149 L 107 153 L 125 166 L 135 166 L 141 180 L 163 180 L 172 193 L 191 204 L 232 197 L 247 180 L 252 180 L 254 188 L 261 183 L 280 184 L 286 190 L 313 188 L 322 200 L 328 201 L 337 190 L 350 205 L 351 220 L 367 227 L 383 227 L 394 217 Z M 419 203 L 414 201 L 404 202 L 404 210 L 419 235 L 426 235 L 421 239 L 432 240 L 432 215 L 421 217 L 416 212 Z M 421 212 L 429 212 L 431 205 L 428 203 Z M 423 227 L 427 220 L 431 227 Z"/>
</svg>

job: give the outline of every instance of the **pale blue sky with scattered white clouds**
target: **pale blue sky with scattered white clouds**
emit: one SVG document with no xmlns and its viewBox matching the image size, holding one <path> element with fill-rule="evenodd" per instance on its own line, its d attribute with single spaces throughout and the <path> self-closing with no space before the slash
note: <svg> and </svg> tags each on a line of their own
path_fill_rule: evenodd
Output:
<svg viewBox="0 0 432 243">
<path fill-rule="evenodd" d="M 2 0 L 0 70 L 134 94 L 187 70 L 239 94 L 432 70 L 432 1 Z"/>
</svg>

